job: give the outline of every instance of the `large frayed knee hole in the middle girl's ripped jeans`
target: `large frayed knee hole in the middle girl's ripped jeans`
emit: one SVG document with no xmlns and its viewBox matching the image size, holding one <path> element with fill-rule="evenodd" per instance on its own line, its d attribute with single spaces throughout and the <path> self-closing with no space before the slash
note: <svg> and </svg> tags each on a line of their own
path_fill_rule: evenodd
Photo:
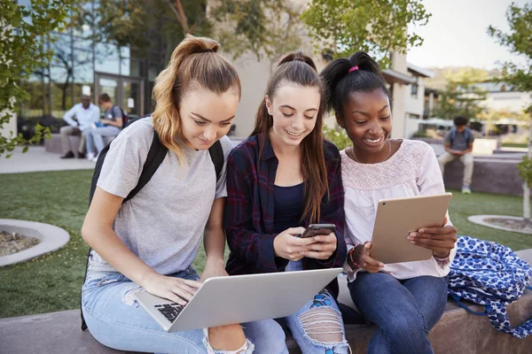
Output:
<svg viewBox="0 0 532 354">
<path fill-rule="evenodd" d="M 331 307 L 317 307 L 299 315 L 301 327 L 312 341 L 344 342 L 340 313 Z"/>
</svg>

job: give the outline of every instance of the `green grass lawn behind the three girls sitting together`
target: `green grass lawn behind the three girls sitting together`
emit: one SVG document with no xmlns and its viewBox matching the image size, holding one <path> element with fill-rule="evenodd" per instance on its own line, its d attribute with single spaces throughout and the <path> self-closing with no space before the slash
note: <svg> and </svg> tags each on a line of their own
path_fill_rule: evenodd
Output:
<svg viewBox="0 0 532 354">
<path fill-rule="evenodd" d="M 79 306 L 87 246 L 80 229 L 87 212 L 91 170 L 0 174 L 0 219 L 26 219 L 63 227 L 70 242 L 26 263 L 0 268 L 0 318 Z M 453 191 L 450 218 L 460 235 L 496 241 L 513 250 L 532 248 L 532 235 L 499 231 L 467 221 L 473 214 L 520 216 L 522 198 Z M 203 270 L 203 249 L 194 261 Z"/>
</svg>

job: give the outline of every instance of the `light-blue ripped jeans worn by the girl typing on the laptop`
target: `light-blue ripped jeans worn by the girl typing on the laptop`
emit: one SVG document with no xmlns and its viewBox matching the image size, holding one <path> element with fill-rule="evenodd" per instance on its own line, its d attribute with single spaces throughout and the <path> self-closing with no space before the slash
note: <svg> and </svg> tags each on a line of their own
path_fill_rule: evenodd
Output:
<svg viewBox="0 0 532 354">
<path fill-rule="evenodd" d="M 171 274 L 199 280 L 192 269 Z M 90 333 L 102 344 L 117 350 L 157 353 L 205 354 L 203 330 L 168 333 L 141 308 L 133 294 L 140 288 L 121 273 L 87 273 L 82 287 L 82 312 Z M 255 353 L 287 353 L 285 333 L 273 319 L 242 324 Z M 212 353 L 213 351 L 211 351 Z M 224 353 L 214 350 L 215 353 Z M 246 354 L 251 350 L 246 351 Z"/>
</svg>

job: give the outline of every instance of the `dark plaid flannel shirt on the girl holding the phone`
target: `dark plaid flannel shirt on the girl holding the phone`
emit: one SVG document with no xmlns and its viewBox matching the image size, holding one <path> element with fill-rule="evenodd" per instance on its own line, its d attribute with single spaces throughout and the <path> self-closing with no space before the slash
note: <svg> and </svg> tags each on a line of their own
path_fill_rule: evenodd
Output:
<svg viewBox="0 0 532 354">
<path fill-rule="evenodd" d="M 230 274 L 284 271 L 288 264 L 287 259 L 276 257 L 273 249 L 273 239 L 278 235 L 273 234 L 273 189 L 278 158 L 268 139 L 259 159 L 260 139 L 261 135 L 254 135 L 241 142 L 231 150 L 227 160 L 224 227 L 231 250 L 226 267 Z M 327 141 L 324 141 L 324 153 L 329 196 L 322 199 L 319 223 L 336 225 L 337 248 L 325 260 L 302 258 L 303 269 L 340 267 L 347 257 L 340 153 Z M 309 226 L 309 219 L 304 219 L 303 226 Z M 329 288 L 336 296 L 337 286 Z"/>
</svg>

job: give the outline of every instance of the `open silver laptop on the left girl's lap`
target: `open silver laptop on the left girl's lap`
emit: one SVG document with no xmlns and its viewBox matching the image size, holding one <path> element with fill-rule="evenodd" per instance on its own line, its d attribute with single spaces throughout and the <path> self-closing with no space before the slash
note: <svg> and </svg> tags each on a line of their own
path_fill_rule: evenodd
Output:
<svg viewBox="0 0 532 354">
<path fill-rule="evenodd" d="M 278 319 L 301 309 L 342 268 L 209 278 L 185 306 L 147 291 L 137 301 L 167 332 Z"/>
</svg>

